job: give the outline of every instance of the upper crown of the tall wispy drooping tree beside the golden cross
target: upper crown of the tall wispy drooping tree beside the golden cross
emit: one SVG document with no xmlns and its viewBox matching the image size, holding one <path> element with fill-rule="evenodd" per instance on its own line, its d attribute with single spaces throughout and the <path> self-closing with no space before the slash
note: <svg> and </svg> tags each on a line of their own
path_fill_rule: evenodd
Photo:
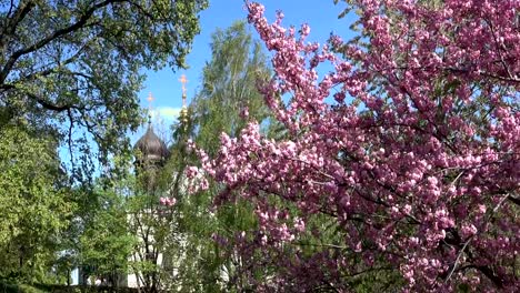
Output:
<svg viewBox="0 0 520 293">
<path fill-rule="evenodd" d="M 252 119 L 268 117 L 257 85 L 270 75 L 268 59 L 246 23 L 239 21 L 211 36 L 211 61 L 202 72 L 202 89 L 192 103 L 196 142 L 210 154 L 217 151 L 222 132 L 237 137 L 248 120 L 240 117 L 247 108 Z"/>
</svg>

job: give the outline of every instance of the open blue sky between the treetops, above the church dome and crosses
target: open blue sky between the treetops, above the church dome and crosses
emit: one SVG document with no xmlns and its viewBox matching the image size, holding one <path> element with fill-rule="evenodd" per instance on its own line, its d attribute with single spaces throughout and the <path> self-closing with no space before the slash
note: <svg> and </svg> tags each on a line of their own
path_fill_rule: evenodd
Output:
<svg viewBox="0 0 520 293">
<path fill-rule="evenodd" d="M 283 11 L 284 27 L 300 27 L 301 23 L 308 23 L 311 27 L 310 41 L 323 43 L 330 32 L 338 33 L 344 39 L 351 33 L 349 26 L 351 19 L 338 19 L 338 14 L 344 9 L 344 3 L 334 6 L 332 0 L 264 0 L 259 1 L 266 7 L 266 17 L 269 21 L 274 20 L 276 11 Z M 207 10 L 200 13 L 201 32 L 196 37 L 191 53 L 187 58 L 188 70 L 163 69 L 158 72 L 148 71 L 144 88 L 139 92 L 141 105 L 148 107 L 147 97 L 152 93 L 154 114 L 153 124 L 158 134 L 168 137 L 167 129 L 179 113 L 182 105 L 181 84 L 178 81 L 181 74 L 186 74 L 189 82 L 187 84 L 188 103 L 190 98 L 197 91 L 200 84 L 201 72 L 204 63 L 210 60 L 210 36 L 217 28 L 226 29 L 232 22 L 246 19 L 247 12 L 242 0 L 210 0 Z M 257 32 L 251 28 L 254 38 Z M 159 117 L 159 118 L 158 118 Z M 137 140 L 140 133 L 132 135 L 132 142 Z M 162 132 L 162 133 L 161 133 Z"/>
</svg>

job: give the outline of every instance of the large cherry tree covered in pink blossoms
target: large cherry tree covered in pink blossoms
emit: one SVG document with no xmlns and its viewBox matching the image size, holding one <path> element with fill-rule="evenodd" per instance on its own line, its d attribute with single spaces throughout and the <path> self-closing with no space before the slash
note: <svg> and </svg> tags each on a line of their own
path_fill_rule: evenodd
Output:
<svg viewBox="0 0 520 293">
<path fill-rule="evenodd" d="M 349 2 L 368 46 L 339 36 L 307 42 L 307 24 L 286 29 L 281 13 L 269 23 L 261 4 L 248 3 L 273 52 L 276 74 L 261 91 L 287 133 L 268 139 L 251 121 L 238 138 L 222 134 L 218 156 L 199 154 L 226 185 L 217 203 L 257 206 L 259 230 L 237 235 L 238 250 L 244 260 L 263 251 L 281 269 L 251 282 L 342 291 L 384 264 L 404 290 L 513 292 L 520 2 Z M 322 63 L 334 70 L 319 77 Z M 303 254 L 298 240 L 321 236 L 309 225 L 316 216 L 333 221 L 340 242 Z"/>
</svg>

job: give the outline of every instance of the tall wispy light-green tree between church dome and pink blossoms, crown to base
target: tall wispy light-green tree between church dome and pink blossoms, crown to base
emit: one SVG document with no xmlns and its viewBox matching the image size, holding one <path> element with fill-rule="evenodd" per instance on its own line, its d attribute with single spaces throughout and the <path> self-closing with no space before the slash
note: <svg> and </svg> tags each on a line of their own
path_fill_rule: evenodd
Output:
<svg viewBox="0 0 520 293">
<path fill-rule="evenodd" d="M 222 132 L 238 135 L 249 119 L 268 119 L 263 98 L 257 89 L 259 80 L 270 75 L 267 55 L 252 39 L 243 21 L 212 34 L 212 57 L 202 73 L 202 87 L 196 94 L 188 113 L 173 125 L 174 144 L 164 168 L 163 184 L 170 195 L 178 199 L 176 209 L 181 241 L 180 262 L 176 282 L 183 291 L 216 292 L 240 287 L 241 263 L 232 243 L 227 249 L 216 242 L 220 236 L 232 240 L 241 231 L 254 225 L 253 209 L 242 202 L 212 212 L 219 185 L 194 195 L 187 195 L 184 171 L 197 160 L 186 148 L 192 139 L 210 154 L 218 152 Z M 244 119 L 244 110 L 249 118 Z"/>
</svg>

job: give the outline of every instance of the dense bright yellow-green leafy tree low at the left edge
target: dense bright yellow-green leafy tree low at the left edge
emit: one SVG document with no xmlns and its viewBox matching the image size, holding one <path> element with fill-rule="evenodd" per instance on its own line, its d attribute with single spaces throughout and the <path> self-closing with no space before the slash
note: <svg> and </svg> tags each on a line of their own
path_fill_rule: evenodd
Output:
<svg viewBox="0 0 520 293">
<path fill-rule="evenodd" d="M 0 128 L 0 277 L 43 281 L 74 205 L 56 142 Z"/>
</svg>

